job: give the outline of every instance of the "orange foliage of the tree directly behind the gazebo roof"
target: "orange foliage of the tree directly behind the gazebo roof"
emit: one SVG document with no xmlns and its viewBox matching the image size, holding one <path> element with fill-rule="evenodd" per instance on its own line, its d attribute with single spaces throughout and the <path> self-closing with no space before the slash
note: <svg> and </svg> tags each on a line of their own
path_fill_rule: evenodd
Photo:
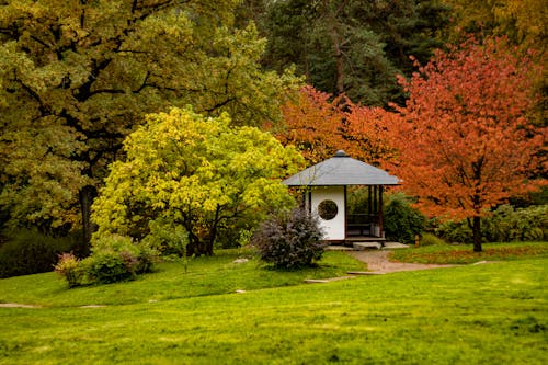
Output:
<svg viewBox="0 0 548 365">
<path fill-rule="evenodd" d="M 276 133 L 276 138 L 284 146 L 296 146 L 309 164 L 340 149 L 372 164 L 390 155 L 380 137 L 381 109 L 359 106 L 345 95 L 332 98 L 307 85 L 282 107 L 282 113 L 286 127 Z"/>
</svg>

